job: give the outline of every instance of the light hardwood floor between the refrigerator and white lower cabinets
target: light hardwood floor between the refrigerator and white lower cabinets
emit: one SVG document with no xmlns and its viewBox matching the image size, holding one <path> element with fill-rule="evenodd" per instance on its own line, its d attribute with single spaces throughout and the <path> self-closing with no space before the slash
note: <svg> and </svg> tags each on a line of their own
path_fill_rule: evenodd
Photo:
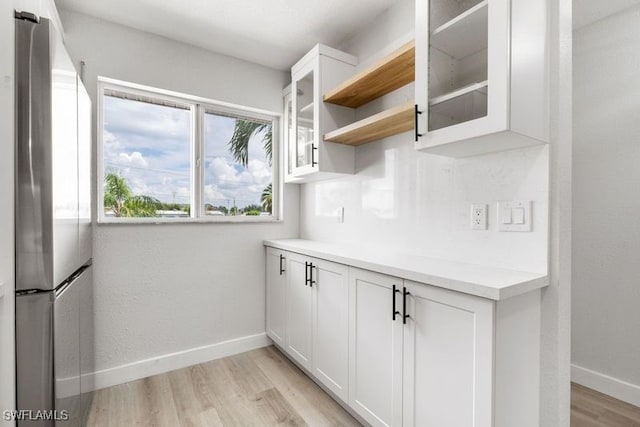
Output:
<svg viewBox="0 0 640 427">
<path fill-rule="evenodd" d="M 275 347 L 96 393 L 89 426 L 359 426 Z"/>
</svg>

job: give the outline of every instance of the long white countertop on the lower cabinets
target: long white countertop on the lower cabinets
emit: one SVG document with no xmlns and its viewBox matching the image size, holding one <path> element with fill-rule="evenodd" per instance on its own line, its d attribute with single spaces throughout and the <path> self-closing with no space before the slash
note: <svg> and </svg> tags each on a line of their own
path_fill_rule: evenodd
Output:
<svg viewBox="0 0 640 427">
<path fill-rule="evenodd" d="M 381 252 L 312 240 L 265 240 L 264 245 L 492 300 L 514 297 L 549 284 L 547 276 L 540 273 Z"/>
</svg>

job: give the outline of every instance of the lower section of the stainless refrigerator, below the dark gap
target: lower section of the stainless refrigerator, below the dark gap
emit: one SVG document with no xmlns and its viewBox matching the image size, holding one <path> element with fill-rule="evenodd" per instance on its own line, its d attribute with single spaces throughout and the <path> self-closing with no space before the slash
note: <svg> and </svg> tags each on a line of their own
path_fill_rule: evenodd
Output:
<svg viewBox="0 0 640 427">
<path fill-rule="evenodd" d="M 82 378 L 94 367 L 92 286 L 89 266 L 54 291 L 16 297 L 17 407 L 53 411 L 20 427 L 85 424 L 93 390 Z"/>
</svg>

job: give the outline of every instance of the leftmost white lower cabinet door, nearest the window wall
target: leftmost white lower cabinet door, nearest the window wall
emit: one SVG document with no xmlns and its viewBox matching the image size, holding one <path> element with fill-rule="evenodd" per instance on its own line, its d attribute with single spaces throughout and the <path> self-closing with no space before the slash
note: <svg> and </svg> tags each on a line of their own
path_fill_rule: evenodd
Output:
<svg viewBox="0 0 640 427">
<path fill-rule="evenodd" d="M 267 335 L 285 346 L 287 253 L 267 248 Z"/>
</svg>

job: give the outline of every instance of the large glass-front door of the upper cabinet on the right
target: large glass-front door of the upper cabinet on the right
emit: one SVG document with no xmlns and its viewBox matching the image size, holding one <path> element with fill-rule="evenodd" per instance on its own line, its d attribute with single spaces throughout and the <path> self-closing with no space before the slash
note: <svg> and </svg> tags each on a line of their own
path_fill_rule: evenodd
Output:
<svg viewBox="0 0 640 427">
<path fill-rule="evenodd" d="M 510 3 L 416 0 L 416 148 L 507 130 Z"/>
</svg>

